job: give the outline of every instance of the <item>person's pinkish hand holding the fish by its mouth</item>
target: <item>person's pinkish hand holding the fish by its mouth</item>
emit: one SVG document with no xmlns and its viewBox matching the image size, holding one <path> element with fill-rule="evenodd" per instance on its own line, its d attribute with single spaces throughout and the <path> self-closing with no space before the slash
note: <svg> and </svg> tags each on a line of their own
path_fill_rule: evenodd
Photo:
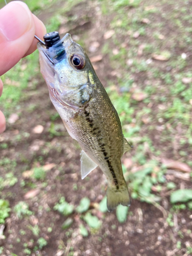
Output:
<svg viewBox="0 0 192 256">
<path fill-rule="evenodd" d="M 0 10 L 0 76 L 10 70 L 21 58 L 36 50 L 37 39 L 46 34 L 44 24 L 31 13 L 28 6 L 14 1 Z M 3 82 L 0 79 L 0 97 Z M 0 111 L 0 133 L 6 128 L 5 117 Z"/>
</svg>

